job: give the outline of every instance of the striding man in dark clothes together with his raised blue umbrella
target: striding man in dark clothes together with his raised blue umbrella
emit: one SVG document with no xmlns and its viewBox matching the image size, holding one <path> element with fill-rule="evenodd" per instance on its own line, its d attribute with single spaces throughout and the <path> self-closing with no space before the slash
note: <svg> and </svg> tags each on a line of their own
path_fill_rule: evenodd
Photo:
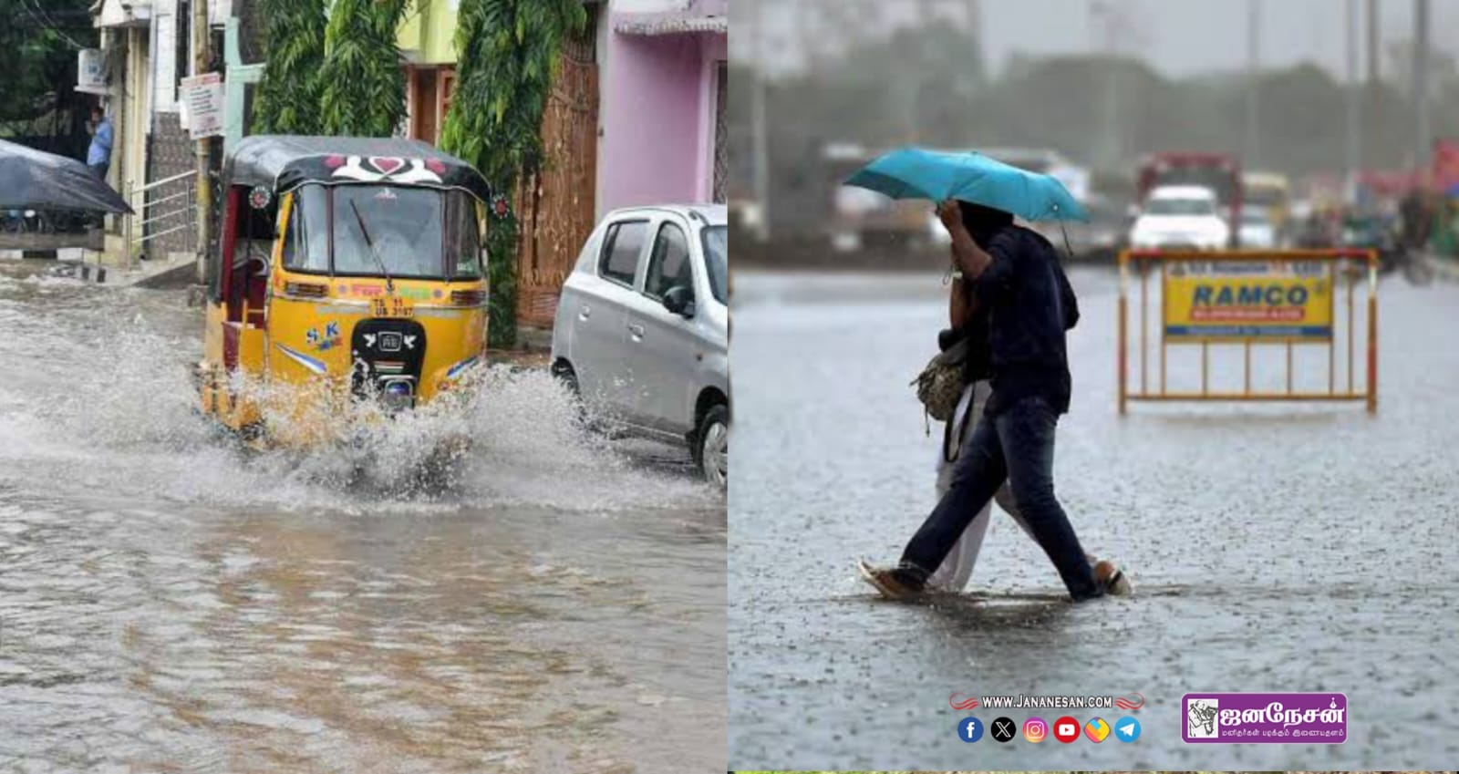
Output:
<svg viewBox="0 0 1459 774">
<path fill-rule="evenodd" d="M 925 590 L 1007 481 L 1023 523 L 1075 602 L 1128 593 L 1129 582 L 1115 563 L 1091 564 L 1053 493 L 1055 427 L 1069 408 L 1065 331 L 1078 321 L 1074 290 L 1043 236 L 1015 226 L 1008 210 L 951 195 L 1008 203 L 1026 217 L 1061 210 L 1078 217 L 1078 204 L 1046 175 L 979 155 L 905 149 L 872 162 L 849 182 L 903 197 L 941 195 L 938 219 L 953 238 L 956 268 L 973 283 L 970 302 L 988 312 L 992 353 L 992 395 L 959 452 L 947 491 L 896 567 L 862 567 L 867 582 L 889 598 Z"/>
</svg>

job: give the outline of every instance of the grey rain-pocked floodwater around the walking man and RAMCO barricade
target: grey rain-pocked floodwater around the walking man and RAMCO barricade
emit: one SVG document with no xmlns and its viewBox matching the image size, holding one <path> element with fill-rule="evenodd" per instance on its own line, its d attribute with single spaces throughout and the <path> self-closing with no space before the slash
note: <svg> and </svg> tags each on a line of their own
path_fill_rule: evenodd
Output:
<svg viewBox="0 0 1459 774">
<path fill-rule="evenodd" d="M 735 278 L 731 768 L 1452 764 L 1459 286 L 1383 280 L 1377 415 L 1132 404 L 1121 418 L 1115 274 L 1071 280 L 1083 318 L 1055 480 L 1084 547 L 1135 585 L 1134 598 L 1080 608 L 1048 596 L 1062 593 L 1052 566 L 998 510 L 978 595 L 891 603 L 855 577 L 856 557 L 894 561 L 934 504 L 941 426 L 925 434 L 907 380 L 947 322 L 938 277 Z M 1188 691 L 1345 692 L 1354 736 L 1186 745 Z M 954 733 L 967 714 L 1129 713 L 948 705 L 951 694 L 1132 692 L 1144 730 L 1128 745 L 969 745 Z"/>
</svg>

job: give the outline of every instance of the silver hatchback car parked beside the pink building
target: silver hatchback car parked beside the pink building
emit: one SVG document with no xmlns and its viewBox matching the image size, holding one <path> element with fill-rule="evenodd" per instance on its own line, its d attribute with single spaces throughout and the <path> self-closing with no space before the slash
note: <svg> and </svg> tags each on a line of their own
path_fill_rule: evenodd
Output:
<svg viewBox="0 0 1459 774">
<path fill-rule="evenodd" d="M 598 421 L 681 443 L 730 474 L 730 238 L 724 206 L 614 210 L 563 284 L 553 373 Z"/>
</svg>

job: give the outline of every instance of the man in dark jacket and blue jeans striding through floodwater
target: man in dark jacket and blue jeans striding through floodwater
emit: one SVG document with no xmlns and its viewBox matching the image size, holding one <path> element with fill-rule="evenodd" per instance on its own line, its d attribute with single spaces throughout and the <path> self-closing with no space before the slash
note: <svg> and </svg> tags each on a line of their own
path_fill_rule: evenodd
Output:
<svg viewBox="0 0 1459 774">
<path fill-rule="evenodd" d="M 944 201 L 938 217 L 953 238 L 953 261 L 973 283 L 973 302 L 989 312 L 992 396 L 953 469 L 951 485 L 902 552 L 894 568 L 867 568 L 884 596 L 925 590 L 928 577 L 1007 480 L 1034 539 L 1053 561 L 1075 602 L 1129 593 L 1110 561 L 1091 566 L 1053 494 L 1053 430 L 1069 410 L 1065 331 L 1078 305 L 1053 246 L 1014 226 L 1013 216 L 964 201 Z"/>
</svg>

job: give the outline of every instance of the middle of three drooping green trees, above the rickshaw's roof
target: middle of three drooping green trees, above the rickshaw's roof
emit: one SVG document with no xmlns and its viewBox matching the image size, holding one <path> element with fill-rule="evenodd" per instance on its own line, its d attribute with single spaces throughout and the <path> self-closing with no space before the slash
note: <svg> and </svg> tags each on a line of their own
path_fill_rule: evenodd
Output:
<svg viewBox="0 0 1459 774">
<path fill-rule="evenodd" d="M 320 67 L 324 134 L 395 133 L 406 115 L 406 76 L 395 31 L 407 6 L 409 0 L 333 0 Z"/>
</svg>

